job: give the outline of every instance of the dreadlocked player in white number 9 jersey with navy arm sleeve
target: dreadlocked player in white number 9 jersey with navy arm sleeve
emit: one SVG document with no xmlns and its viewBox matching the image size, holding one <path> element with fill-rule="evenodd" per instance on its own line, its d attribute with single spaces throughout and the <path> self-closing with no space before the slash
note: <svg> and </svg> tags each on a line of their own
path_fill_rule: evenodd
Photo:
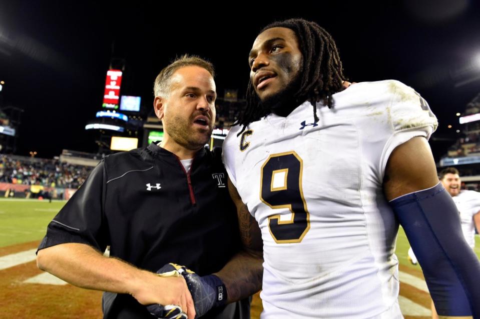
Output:
<svg viewBox="0 0 480 319">
<path fill-rule="evenodd" d="M 224 163 L 244 243 L 263 239 L 262 318 L 402 317 L 398 222 L 438 312 L 480 317 L 480 264 L 438 183 L 426 102 L 393 80 L 341 91 L 334 41 L 302 19 L 265 27 L 249 64 Z"/>
</svg>

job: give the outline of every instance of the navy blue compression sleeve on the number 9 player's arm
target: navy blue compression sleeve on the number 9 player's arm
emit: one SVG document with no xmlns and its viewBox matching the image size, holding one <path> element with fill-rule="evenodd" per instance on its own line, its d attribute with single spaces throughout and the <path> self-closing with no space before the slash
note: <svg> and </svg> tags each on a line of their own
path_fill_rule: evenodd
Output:
<svg viewBox="0 0 480 319">
<path fill-rule="evenodd" d="M 450 194 L 432 188 L 390 201 L 420 263 L 439 315 L 480 318 L 480 262 L 466 243 Z"/>
</svg>

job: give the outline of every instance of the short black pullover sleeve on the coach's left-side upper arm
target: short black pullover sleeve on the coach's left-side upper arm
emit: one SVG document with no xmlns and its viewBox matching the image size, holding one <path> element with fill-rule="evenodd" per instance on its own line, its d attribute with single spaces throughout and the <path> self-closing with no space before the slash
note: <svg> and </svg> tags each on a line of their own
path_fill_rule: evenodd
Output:
<svg viewBox="0 0 480 319">
<path fill-rule="evenodd" d="M 105 169 L 101 161 L 53 218 L 39 250 L 66 242 L 89 244 L 101 251 L 109 244 L 104 222 Z"/>
</svg>

